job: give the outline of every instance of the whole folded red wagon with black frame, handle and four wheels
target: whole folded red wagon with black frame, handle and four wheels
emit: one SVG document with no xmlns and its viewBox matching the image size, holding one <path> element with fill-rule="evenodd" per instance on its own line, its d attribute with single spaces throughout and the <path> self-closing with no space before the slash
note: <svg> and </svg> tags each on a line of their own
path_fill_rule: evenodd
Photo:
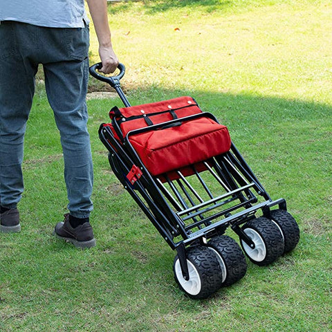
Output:
<svg viewBox="0 0 332 332">
<path fill-rule="evenodd" d="M 270 198 L 212 113 L 190 97 L 131 107 L 120 87 L 124 65 L 108 77 L 99 68 L 91 66 L 91 75 L 116 89 L 124 104 L 111 109 L 111 123 L 100 125 L 100 140 L 113 173 L 176 250 L 181 291 L 209 297 L 246 274 L 243 252 L 265 266 L 295 248 L 299 228 L 285 199 Z M 241 247 L 225 234 L 228 228 Z"/>
</svg>

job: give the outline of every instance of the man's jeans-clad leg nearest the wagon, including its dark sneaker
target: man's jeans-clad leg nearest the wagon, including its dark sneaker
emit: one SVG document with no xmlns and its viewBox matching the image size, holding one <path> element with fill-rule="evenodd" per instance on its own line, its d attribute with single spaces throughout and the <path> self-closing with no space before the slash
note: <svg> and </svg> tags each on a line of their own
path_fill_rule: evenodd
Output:
<svg viewBox="0 0 332 332">
<path fill-rule="evenodd" d="M 89 30 L 87 27 L 62 31 L 53 29 L 52 39 L 56 41 L 63 31 L 66 32 L 67 42 L 70 42 L 68 53 L 64 56 L 61 50 L 58 61 L 44 63 L 46 93 L 54 111 L 64 153 L 64 178 L 70 212 L 64 223 L 57 225 L 55 233 L 75 246 L 88 247 L 95 245 L 89 224 L 89 215 L 93 210 L 93 164 L 86 108 Z M 53 50 L 52 56 L 57 57 L 57 50 Z M 84 236 L 80 236 L 82 233 Z"/>
</svg>

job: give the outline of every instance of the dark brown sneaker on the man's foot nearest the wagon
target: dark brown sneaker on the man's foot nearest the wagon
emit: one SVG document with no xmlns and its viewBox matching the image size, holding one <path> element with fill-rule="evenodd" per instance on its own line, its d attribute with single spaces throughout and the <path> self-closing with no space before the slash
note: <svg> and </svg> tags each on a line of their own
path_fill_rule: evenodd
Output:
<svg viewBox="0 0 332 332">
<path fill-rule="evenodd" d="M 69 214 L 64 215 L 64 221 L 55 225 L 54 234 L 59 239 L 73 243 L 78 248 L 91 248 L 95 246 L 93 230 L 89 222 L 73 228 L 69 223 Z"/>
</svg>

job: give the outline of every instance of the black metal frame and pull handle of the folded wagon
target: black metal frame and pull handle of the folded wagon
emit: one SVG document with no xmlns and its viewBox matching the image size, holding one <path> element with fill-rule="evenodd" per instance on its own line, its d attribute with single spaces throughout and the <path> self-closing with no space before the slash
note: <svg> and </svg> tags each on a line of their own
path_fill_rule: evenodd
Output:
<svg viewBox="0 0 332 332">
<path fill-rule="evenodd" d="M 91 74 L 100 79 L 100 75 L 95 73 L 95 68 L 98 68 L 98 65 L 91 67 Z M 130 104 L 120 88 L 120 78 L 123 74 L 124 66 L 120 67 L 120 75 L 115 79 L 106 77 L 102 80 L 115 87 L 124 106 L 129 107 Z M 217 122 L 211 113 L 199 113 L 181 118 L 181 121 L 202 116 Z M 172 172 L 176 174 L 173 180 L 169 174 L 152 176 L 133 149 L 129 137 L 154 131 L 178 121 L 176 119 L 130 131 L 123 142 L 114 137 L 110 127 L 104 124 L 100 126 L 99 135 L 109 150 L 109 164 L 114 174 L 163 239 L 172 250 L 177 251 L 183 277 L 189 279 L 185 251 L 187 246 L 197 242 L 206 243 L 208 239 L 216 234 L 223 234 L 230 227 L 242 241 L 255 248 L 255 244 L 240 226 L 255 218 L 259 210 L 266 217 L 270 216 L 270 208 L 275 205 L 286 210 L 286 201 L 273 201 L 270 198 L 233 143 L 230 151 L 225 154 L 199 163 L 203 171 L 198 169 L 197 165 L 190 165 L 190 176 L 183 175 L 181 169 Z M 133 166 L 138 167 L 140 174 L 134 174 L 133 181 L 129 181 L 127 175 Z M 223 193 L 214 194 L 209 188 L 211 181 L 207 183 L 204 180 L 205 176 L 214 178 L 218 183 L 218 191 L 223 190 Z M 200 187 L 194 189 L 197 183 Z M 202 193 L 208 199 L 204 199 Z"/>
</svg>

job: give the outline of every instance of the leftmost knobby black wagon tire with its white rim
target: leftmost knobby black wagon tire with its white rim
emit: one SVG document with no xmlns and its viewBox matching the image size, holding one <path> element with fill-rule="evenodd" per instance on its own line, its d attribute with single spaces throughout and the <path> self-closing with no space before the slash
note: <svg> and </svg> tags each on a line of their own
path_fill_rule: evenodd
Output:
<svg viewBox="0 0 332 332">
<path fill-rule="evenodd" d="M 179 270 L 178 255 L 173 264 L 174 278 L 181 291 L 192 299 L 206 299 L 219 290 L 222 283 L 222 276 L 219 268 L 219 261 L 215 252 L 205 246 L 194 246 L 187 249 L 187 261 L 196 269 L 196 277 L 199 278 L 201 286 L 198 291 L 192 292 L 187 287 L 187 283 Z M 186 289 L 187 288 L 187 289 Z M 190 287 L 189 287 L 190 288 Z"/>
</svg>

